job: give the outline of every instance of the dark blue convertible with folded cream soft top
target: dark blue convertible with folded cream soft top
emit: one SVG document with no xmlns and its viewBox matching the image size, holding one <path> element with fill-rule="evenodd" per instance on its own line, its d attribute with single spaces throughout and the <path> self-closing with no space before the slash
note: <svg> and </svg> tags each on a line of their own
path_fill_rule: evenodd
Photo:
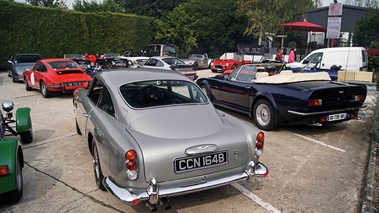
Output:
<svg viewBox="0 0 379 213">
<path fill-rule="evenodd" d="M 327 72 L 282 70 L 269 76 L 254 64 L 198 79 L 197 84 L 214 105 L 249 115 L 263 130 L 356 118 L 367 94 L 366 85 L 335 82 Z"/>
</svg>

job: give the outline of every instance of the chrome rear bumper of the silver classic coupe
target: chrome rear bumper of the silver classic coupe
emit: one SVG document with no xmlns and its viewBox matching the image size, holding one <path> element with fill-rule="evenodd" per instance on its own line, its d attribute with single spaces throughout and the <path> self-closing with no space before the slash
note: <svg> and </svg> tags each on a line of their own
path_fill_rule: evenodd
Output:
<svg viewBox="0 0 379 213">
<path fill-rule="evenodd" d="M 136 205 L 140 201 L 149 201 L 151 204 L 157 204 L 160 197 L 169 197 L 182 194 L 188 194 L 192 192 L 202 191 L 210 188 L 215 188 L 240 180 L 248 180 L 249 182 L 254 181 L 255 177 L 265 177 L 268 175 L 268 169 L 265 165 L 258 162 L 254 165 L 254 162 L 251 161 L 245 171 L 241 174 L 232 175 L 229 177 L 204 182 L 197 185 L 189 185 L 176 188 L 159 188 L 155 178 L 150 180 L 149 186 L 146 188 L 146 191 L 140 194 L 134 194 L 124 188 L 118 187 L 110 178 L 105 177 L 103 184 L 105 188 L 112 193 L 115 197 L 121 200 L 124 203 L 129 205 Z"/>
</svg>

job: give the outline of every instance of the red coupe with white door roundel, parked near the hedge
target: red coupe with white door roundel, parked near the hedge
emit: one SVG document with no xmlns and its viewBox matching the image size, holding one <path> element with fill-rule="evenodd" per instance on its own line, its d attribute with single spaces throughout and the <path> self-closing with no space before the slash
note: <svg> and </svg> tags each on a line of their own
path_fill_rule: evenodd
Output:
<svg viewBox="0 0 379 213">
<path fill-rule="evenodd" d="M 92 81 L 78 63 L 71 59 L 50 58 L 36 62 L 31 70 L 24 72 L 25 89 L 39 89 L 44 98 L 57 92 L 73 92 L 87 88 Z"/>
</svg>

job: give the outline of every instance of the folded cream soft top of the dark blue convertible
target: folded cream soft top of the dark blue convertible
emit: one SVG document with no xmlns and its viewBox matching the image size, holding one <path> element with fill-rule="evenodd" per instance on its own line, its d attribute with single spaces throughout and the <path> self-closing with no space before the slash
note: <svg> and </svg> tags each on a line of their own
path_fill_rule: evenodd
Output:
<svg viewBox="0 0 379 213">
<path fill-rule="evenodd" d="M 279 74 L 268 76 L 266 72 L 258 72 L 255 76 L 255 83 L 266 84 L 285 84 L 303 81 L 330 81 L 331 78 L 327 72 L 313 73 L 292 73 L 290 70 L 283 70 Z"/>
</svg>

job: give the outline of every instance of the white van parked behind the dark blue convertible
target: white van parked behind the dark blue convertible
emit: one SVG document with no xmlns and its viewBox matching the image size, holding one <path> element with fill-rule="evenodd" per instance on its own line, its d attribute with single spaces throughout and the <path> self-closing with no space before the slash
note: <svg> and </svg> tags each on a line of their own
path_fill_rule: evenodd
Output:
<svg viewBox="0 0 379 213">
<path fill-rule="evenodd" d="M 309 53 L 300 63 L 286 64 L 287 67 L 304 70 L 330 70 L 333 65 L 341 66 L 340 70 L 367 71 L 367 51 L 364 47 L 322 48 Z"/>
</svg>

